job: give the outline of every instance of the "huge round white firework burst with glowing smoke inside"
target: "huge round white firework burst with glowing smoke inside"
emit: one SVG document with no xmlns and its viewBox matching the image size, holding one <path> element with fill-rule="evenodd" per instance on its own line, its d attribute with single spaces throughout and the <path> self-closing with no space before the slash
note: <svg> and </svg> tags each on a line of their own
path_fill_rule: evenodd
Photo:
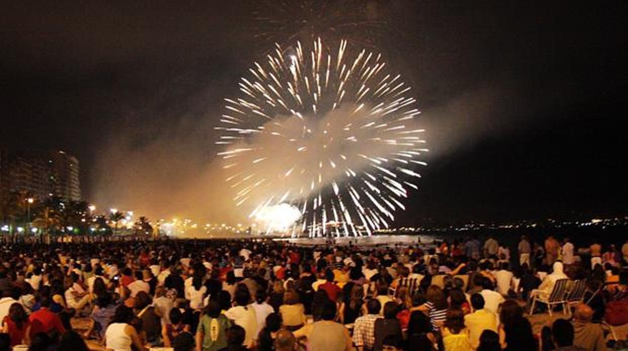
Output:
<svg viewBox="0 0 628 351">
<path fill-rule="evenodd" d="M 234 202 L 251 217 L 290 204 L 310 236 L 384 229 L 404 209 L 426 152 L 410 88 L 381 55 L 322 41 L 293 54 L 277 45 L 225 99 L 220 119 Z M 270 212 L 274 213 L 274 212 Z M 282 212 L 278 212 L 282 213 Z"/>
</svg>

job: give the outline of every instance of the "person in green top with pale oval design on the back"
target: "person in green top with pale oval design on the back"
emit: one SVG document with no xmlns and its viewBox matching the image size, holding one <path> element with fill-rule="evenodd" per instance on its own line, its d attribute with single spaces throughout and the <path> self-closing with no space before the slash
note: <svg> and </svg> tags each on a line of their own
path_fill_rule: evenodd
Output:
<svg viewBox="0 0 628 351">
<path fill-rule="evenodd" d="M 200 318 L 196 333 L 198 351 L 218 351 L 227 347 L 227 330 L 231 327 L 229 318 L 220 313 L 220 304 L 209 300 L 205 313 Z"/>
</svg>

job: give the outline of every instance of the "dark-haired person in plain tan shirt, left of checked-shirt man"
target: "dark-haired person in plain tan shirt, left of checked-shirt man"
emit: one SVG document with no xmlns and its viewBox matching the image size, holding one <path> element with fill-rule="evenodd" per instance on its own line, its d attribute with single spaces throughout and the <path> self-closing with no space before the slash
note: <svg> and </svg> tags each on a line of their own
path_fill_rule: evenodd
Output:
<svg viewBox="0 0 628 351">
<path fill-rule="evenodd" d="M 335 316 L 336 304 L 332 301 L 323 302 L 321 308 L 322 320 L 315 321 L 311 324 L 306 324 L 303 328 L 295 332 L 295 337 L 306 337 L 309 345 L 308 350 L 351 350 L 352 343 L 351 337 L 349 335 L 349 330 L 347 330 L 344 325 L 333 321 Z M 393 319 L 396 321 L 394 314 Z M 401 333 L 401 329 L 399 329 L 399 333 Z"/>
</svg>

